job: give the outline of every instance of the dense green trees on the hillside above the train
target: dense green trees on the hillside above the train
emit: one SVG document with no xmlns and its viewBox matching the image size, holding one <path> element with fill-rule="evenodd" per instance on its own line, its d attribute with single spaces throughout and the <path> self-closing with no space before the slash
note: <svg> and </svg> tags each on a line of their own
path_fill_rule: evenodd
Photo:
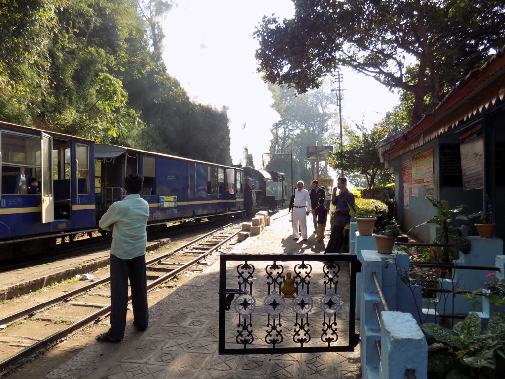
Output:
<svg viewBox="0 0 505 379">
<path fill-rule="evenodd" d="M 166 0 L 0 1 L 0 120 L 231 164 L 226 109 L 161 61 Z"/>
</svg>

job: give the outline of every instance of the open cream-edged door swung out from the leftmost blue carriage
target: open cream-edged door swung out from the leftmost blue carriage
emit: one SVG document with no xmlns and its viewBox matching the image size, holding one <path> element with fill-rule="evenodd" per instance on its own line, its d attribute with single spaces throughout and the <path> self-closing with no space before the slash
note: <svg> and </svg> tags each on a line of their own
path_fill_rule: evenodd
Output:
<svg viewBox="0 0 505 379">
<path fill-rule="evenodd" d="M 41 133 L 40 161 L 42 185 L 42 223 L 55 220 L 55 207 L 53 197 L 53 138 L 45 133 Z"/>
</svg>

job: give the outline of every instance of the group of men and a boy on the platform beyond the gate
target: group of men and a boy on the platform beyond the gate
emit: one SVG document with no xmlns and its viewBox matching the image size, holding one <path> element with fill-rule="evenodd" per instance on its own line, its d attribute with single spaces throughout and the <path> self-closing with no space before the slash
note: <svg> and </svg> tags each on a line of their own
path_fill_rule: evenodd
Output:
<svg viewBox="0 0 505 379">
<path fill-rule="evenodd" d="M 304 241 L 308 240 L 307 216 L 312 212 L 314 234 L 317 235 L 318 243 L 322 243 L 329 213 L 328 208 L 325 207 L 326 193 L 317 180 L 312 181 L 310 193 L 304 185 L 302 180 L 296 183 L 296 189 L 289 204 L 288 212 L 292 211 L 293 240 L 298 241 L 300 234 Z M 331 203 L 335 206 L 335 211 L 330 241 L 324 251 L 325 254 L 339 253 L 347 238 L 345 225 L 349 222 L 349 207 L 354 209 L 354 195 L 347 189 L 346 178 L 337 179 L 337 186 L 333 187 Z"/>
</svg>

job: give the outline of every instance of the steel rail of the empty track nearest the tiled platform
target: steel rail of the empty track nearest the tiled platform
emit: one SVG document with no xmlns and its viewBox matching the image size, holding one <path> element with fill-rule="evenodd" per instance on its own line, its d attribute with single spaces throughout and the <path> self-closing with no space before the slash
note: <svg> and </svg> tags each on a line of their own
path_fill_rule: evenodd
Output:
<svg viewBox="0 0 505 379">
<path fill-rule="evenodd" d="M 232 225 L 233 223 L 230 223 L 228 225 L 225 225 L 217 230 L 215 230 L 214 232 L 216 231 L 219 231 L 221 229 L 223 229 L 224 227 L 226 226 L 230 226 Z M 147 290 L 153 290 L 154 288 L 158 287 L 159 285 L 161 285 L 161 283 L 163 283 L 164 281 L 167 281 L 168 279 L 172 278 L 173 276 L 177 275 L 179 272 L 187 269 L 188 267 L 191 267 L 192 265 L 194 265 L 195 263 L 199 262 L 201 259 L 205 258 L 207 255 L 211 254 L 212 252 L 214 252 L 215 250 L 217 250 L 218 248 L 220 248 L 221 246 L 223 246 L 225 243 L 227 243 L 229 240 L 231 240 L 235 235 L 237 235 L 238 233 L 240 232 L 240 230 L 237 230 L 236 232 L 232 233 L 230 236 L 228 236 L 225 240 L 223 240 L 222 242 L 220 242 L 218 245 L 216 245 L 215 247 L 209 249 L 209 251 L 203 253 L 203 254 L 200 254 L 199 256 L 197 256 L 196 258 L 194 258 L 193 260 L 185 263 L 184 265 L 176 268 L 175 270 L 173 271 L 170 271 L 169 273 L 161 276 L 160 278 L 150 282 L 148 285 L 147 285 Z M 205 234 L 203 237 L 201 237 L 200 239 L 197 239 L 197 240 L 201 240 L 201 239 L 204 239 L 206 238 L 207 236 L 209 236 L 210 234 L 212 234 L 213 232 L 211 233 L 207 233 Z M 195 241 L 195 240 L 193 240 Z M 186 244 L 187 245 L 187 244 Z M 178 248 L 178 249 L 174 249 L 174 250 L 181 250 L 181 248 Z M 157 260 L 154 260 L 155 262 Z M 105 279 L 105 278 L 104 278 Z M 95 283 L 93 283 L 95 284 Z M 128 301 L 131 300 L 131 294 L 128 295 Z M 81 327 L 87 325 L 88 323 L 90 323 L 91 321 L 93 321 L 94 319 L 96 319 L 97 317 L 99 316 L 102 316 L 104 314 L 107 314 L 110 312 L 110 309 L 111 309 L 111 305 L 108 305 L 106 307 L 103 307 L 99 310 L 97 310 L 96 312 L 82 318 L 81 320 L 79 321 L 76 321 L 74 323 L 72 323 L 71 325 L 63 328 L 62 330 L 59 330 L 57 331 L 56 333 L 52 334 L 51 336 L 48 336 L 40 341 L 38 341 L 37 343 L 31 345 L 31 346 L 28 346 L 27 348 L 21 350 L 20 352 L 16 353 L 15 355 L 3 360 L 2 362 L 0 362 L 0 375 L 3 375 L 5 372 L 6 372 L 6 368 L 5 366 L 8 365 L 9 363 L 12 363 L 24 356 L 26 356 L 27 354 L 41 348 L 41 347 L 45 347 L 49 344 L 52 344 L 54 342 L 57 342 L 59 339 L 61 338 L 64 338 L 66 336 L 68 336 L 69 334 L 71 334 L 73 331 L 75 330 L 78 330 L 80 329 Z M 8 371 L 9 369 L 7 369 Z"/>
</svg>

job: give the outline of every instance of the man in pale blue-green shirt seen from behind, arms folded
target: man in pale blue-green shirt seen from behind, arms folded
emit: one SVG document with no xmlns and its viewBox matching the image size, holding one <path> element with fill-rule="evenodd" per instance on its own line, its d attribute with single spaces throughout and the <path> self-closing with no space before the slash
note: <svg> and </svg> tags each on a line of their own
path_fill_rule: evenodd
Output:
<svg viewBox="0 0 505 379">
<path fill-rule="evenodd" d="M 145 245 L 149 205 L 138 195 L 143 178 L 139 174 L 125 178 L 126 197 L 114 203 L 98 221 L 98 226 L 112 231 L 111 246 L 111 328 L 96 336 L 96 341 L 118 343 L 124 337 L 130 279 L 133 324 L 145 330 L 149 321 Z"/>
</svg>

